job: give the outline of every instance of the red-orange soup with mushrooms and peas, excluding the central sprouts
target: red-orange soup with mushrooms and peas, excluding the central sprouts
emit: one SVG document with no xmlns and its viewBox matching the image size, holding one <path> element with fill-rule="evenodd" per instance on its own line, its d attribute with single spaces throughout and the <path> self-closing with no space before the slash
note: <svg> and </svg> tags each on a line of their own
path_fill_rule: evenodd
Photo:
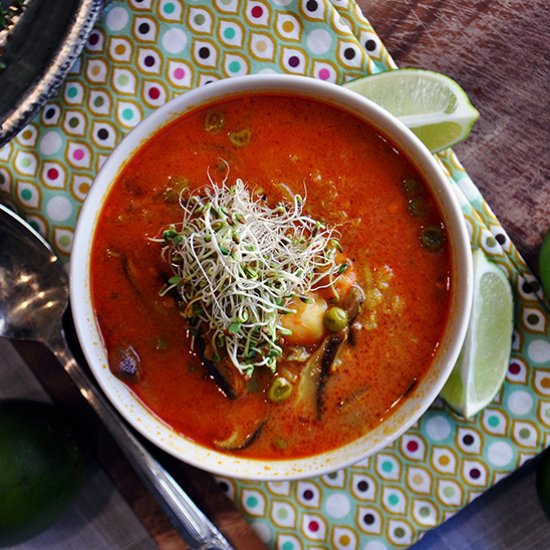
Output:
<svg viewBox="0 0 550 550">
<path fill-rule="evenodd" d="M 261 347 L 273 357 L 249 354 L 241 370 L 218 351 L 249 320 L 231 319 L 218 347 L 178 294 L 188 256 L 176 248 L 195 238 L 177 225 L 182 206 L 211 212 L 223 189 L 263 214 L 298 205 L 302 237 L 320 228 L 332 261 L 279 304 Z M 97 221 L 92 302 L 112 372 L 166 424 L 208 448 L 289 459 L 361 437 L 406 399 L 445 331 L 450 261 L 435 200 L 383 136 L 322 102 L 256 93 L 181 116 L 128 160 Z"/>
</svg>

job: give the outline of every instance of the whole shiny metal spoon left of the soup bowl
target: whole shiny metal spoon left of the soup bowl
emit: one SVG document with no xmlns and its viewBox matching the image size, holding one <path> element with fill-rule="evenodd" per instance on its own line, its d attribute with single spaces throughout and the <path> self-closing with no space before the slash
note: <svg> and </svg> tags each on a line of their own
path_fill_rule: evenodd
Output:
<svg viewBox="0 0 550 550">
<path fill-rule="evenodd" d="M 52 351 L 190 548 L 231 549 L 76 362 L 61 323 L 68 297 L 68 276 L 50 245 L 0 204 L 0 337 L 42 342 Z"/>
</svg>

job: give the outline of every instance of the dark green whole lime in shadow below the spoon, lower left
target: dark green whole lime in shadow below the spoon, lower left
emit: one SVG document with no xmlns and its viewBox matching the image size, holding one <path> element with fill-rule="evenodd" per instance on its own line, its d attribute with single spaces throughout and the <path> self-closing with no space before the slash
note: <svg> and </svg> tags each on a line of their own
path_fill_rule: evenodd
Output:
<svg viewBox="0 0 550 550">
<path fill-rule="evenodd" d="M 78 493 L 83 474 L 82 446 L 55 407 L 0 400 L 0 547 L 53 525 Z"/>
</svg>

